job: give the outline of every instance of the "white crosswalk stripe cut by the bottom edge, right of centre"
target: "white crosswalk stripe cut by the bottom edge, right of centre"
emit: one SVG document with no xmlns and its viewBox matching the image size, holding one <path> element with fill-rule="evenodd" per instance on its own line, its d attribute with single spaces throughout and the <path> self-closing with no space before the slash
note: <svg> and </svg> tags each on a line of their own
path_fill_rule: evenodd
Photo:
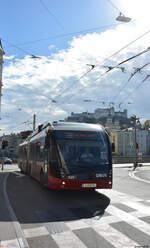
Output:
<svg viewBox="0 0 150 248">
<path fill-rule="evenodd" d="M 94 227 L 94 230 L 116 248 L 133 248 L 138 246 L 136 242 L 107 224 L 99 224 L 99 226 Z"/>
</svg>

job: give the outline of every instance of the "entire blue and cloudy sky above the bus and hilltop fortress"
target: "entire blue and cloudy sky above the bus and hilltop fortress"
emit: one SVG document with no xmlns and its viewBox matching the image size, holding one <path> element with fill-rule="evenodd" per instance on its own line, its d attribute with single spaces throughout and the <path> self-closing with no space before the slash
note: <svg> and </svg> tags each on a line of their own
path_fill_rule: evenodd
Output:
<svg viewBox="0 0 150 248">
<path fill-rule="evenodd" d="M 150 119 L 149 0 L 2 0 L 1 9 L 0 135 L 32 129 L 34 114 L 36 126 L 110 106 Z"/>
</svg>

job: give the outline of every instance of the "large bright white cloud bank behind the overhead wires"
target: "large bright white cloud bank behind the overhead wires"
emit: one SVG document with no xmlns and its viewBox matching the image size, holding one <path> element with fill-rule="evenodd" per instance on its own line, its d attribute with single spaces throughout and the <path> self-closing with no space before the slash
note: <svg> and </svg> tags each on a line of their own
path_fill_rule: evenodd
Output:
<svg viewBox="0 0 150 248">
<path fill-rule="evenodd" d="M 100 77 L 106 71 L 104 65 L 116 65 L 122 60 L 146 49 L 149 44 L 150 34 L 136 41 L 128 48 L 111 57 L 116 51 L 136 39 L 146 31 L 134 24 L 119 25 L 102 33 L 93 33 L 74 37 L 69 47 L 60 50 L 51 57 L 31 59 L 29 56 L 23 59 L 15 59 L 5 66 L 3 70 L 3 97 L 2 102 L 10 112 L 8 125 L 4 129 L 13 129 L 12 122 L 20 123 L 26 119 L 32 121 L 34 113 L 38 121 L 59 120 L 73 112 L 94 111 L 95 108 L 104 107 L 102 101 L 114 101 L 119 104 L 133 101 L 134 104 L 122 105 L 131 112 L 141 114 L 143 118 L 149 118 L 148 108 L 148 81 L 146 92 L 144 84 L 135 94 L 128 99 L 132 92 L 148 71 L 137 73 L 130 81 L 126 90 L 123 90 L 117 99 L 114 99 L 120 87 L 127 82 L 133 67 L 141 67 L 150 62 L 149 52 L 126 63 L 128 70 L 122 73 L 120 69 L 113 70 Z M 108 60 L 104 60 L 109 58 Z M 87 64 L 96 64 L 96 68 L 80 79 L 81 75 L 90 70 Z M 98 80 L 96 80 L 99 77 Z M 149 80 L 149 79 L 148 79 Z M 140 94 L 141 92 L 141 94 Z M 137 99 L 136 96 L 139 98 Z M 84 99 L 92 99 L 85 103 Z M 57 103 L 51 100 L 56 100 Z M 21 108 L 21 111 L 18 111 Z M 131 110 L 131 111 L 130 111 Z M 5 108 L 2 105 L 2 122 Z M 10 126 L 9 126 L 10 125 Z M 22 128 L 22 126 L 18 126 Z M 17 128 L 16 128 L 17 130 Z"/>
</svg>

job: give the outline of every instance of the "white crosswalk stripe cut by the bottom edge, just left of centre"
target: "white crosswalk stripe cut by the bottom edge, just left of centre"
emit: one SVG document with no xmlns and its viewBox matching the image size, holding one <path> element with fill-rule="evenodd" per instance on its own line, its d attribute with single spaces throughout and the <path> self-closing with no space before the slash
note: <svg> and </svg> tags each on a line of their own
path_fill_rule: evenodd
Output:
<svg viewBox="0 0 150 248">
<path fill-rule="evenodd" d="M 52 238 L 60 248 L 87 248 L 72 231 L 52 234 Z"/>
</svg>

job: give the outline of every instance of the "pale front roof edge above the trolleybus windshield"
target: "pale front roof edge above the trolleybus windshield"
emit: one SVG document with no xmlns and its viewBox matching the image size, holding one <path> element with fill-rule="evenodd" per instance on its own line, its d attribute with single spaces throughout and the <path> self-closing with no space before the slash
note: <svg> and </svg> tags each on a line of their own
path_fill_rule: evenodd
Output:
<svg viewBox="0 0 150 248">
<path fill-rule="evenodd" d="M 53 122 L 54 130 L 104 131 L 100 124 L 81 122 Z"/>
</svg>

